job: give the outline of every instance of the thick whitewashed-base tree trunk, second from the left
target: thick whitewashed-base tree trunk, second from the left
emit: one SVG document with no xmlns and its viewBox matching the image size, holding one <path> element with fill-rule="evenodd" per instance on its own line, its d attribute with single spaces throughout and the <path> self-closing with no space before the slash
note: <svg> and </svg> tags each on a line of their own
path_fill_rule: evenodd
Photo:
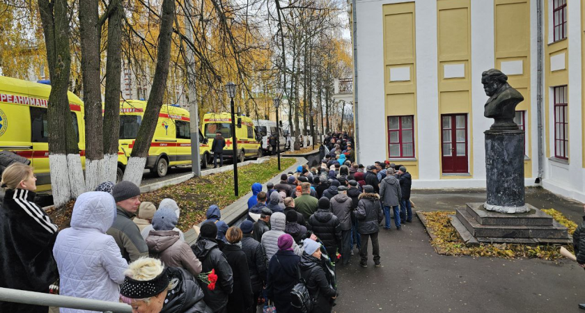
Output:
<svg viewBox="0 0 585 313">
<path fill-rule="evenodd" d="M 84 85 L 86 189 L 93 190 L 102 179 L 104 145 L 102 142 L 102 88 L 100 85 L 100 40 L 98 0 L 79 0 L 79 38 L 81 76 Z"/>
</svg>

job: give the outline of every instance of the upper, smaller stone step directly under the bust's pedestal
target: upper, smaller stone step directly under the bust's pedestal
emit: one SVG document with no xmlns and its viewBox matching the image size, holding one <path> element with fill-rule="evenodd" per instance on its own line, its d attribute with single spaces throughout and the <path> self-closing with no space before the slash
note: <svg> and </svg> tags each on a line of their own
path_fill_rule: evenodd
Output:
<svg viewBox="0 0 585 313">
<path fill-rule="evenodd" d="M 467 213 L 481 225 L 552 226 L 553 218 L 526 203 L 529 212 L 505 214 L 487 211 L 482 202 L 467 203 Z"/>
</svg>

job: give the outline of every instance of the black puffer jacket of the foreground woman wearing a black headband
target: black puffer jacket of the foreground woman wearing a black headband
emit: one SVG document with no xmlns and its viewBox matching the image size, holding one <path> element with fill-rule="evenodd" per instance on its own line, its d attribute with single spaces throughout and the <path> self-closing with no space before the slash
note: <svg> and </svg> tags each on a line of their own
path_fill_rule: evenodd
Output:
<svg viewBox="0 0 585 313">
<path fill-rule="evenodd" d="M 197 280 L 183 268 L 169 267 L 171 280 L 178 279 L 178 284 L 172 292 L 166 296 L 161 313 L 208 313 L 212 312 L 210 307 L 203 301 L 203 290 L 199 287 Z"/>
</svg>

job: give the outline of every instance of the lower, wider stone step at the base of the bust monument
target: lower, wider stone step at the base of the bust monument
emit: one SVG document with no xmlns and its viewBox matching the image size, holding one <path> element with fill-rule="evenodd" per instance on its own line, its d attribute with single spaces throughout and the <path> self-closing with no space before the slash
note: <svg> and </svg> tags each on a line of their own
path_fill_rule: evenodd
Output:
<svg viewBox="0 0 585 313">
<path fill-rule="evenodd" d="M 562 238 L 568 237 L 567 228 L 553 221 L 552 226 L 533 225 L 481 225 L 467 212 L 467 209 L 457 209 L 455 216 L 465 225 L 465 228 L 476 237 L 504 237 L 504 238 Z"/>
</svg>

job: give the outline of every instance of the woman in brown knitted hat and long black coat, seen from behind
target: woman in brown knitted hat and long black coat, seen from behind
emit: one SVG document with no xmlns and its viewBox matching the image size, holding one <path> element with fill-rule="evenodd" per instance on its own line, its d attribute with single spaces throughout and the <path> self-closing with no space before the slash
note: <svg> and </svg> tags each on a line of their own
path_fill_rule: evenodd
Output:
<svg viewBox="0 0 585 313">
<path fill-rule="evenodd" d="M 242 230 L 229 227 L 226 239 L 228 244 L 224 246 L 222 252 L 232 268 L 233 288 L 237 290 L 228 296 L 227 312 L 245 313 L 253 305 L 253 293 L 246 253 L 242 251 Z"/>
</svg>

